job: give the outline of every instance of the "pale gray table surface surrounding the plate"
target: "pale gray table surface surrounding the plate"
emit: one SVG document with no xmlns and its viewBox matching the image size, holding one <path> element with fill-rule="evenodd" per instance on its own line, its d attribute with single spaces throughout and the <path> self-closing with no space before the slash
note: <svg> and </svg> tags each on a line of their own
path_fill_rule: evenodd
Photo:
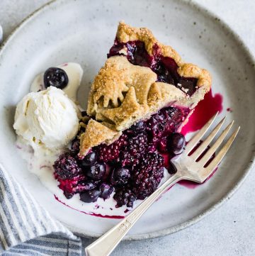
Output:
<svg viewBox="0 0 255 256">
<path fill-rule="evenodd" d="M 48 0 L 0 0 L 4 38 Z M 229 24 L 255 55 L 254 0 L 196 0 Z M 255 168 L 242 187 L 217 211 L 190 228 L 164 238 L 123 242 L 113 256 L 255 255 Z M 91 240 L 84 239 L 84 245 Z"/>
</svg>

